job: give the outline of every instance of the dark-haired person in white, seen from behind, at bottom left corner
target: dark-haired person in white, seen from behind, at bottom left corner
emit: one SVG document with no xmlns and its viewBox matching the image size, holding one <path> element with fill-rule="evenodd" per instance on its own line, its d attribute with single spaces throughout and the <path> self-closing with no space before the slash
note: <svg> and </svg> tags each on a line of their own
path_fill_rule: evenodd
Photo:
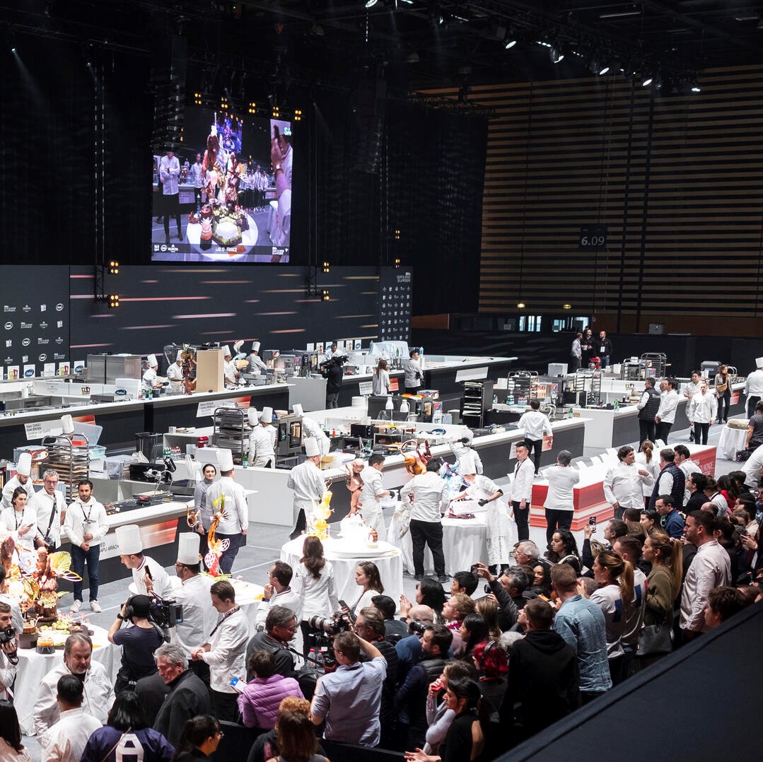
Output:
<svg viewBox="0 0 763 762">
<path fill-rule="evenodd" d="M 84 683 L 74 675 L 61 675 L 56 683 L 56 701 L 60 715 L 42 738 L 45 762 L 79 762 L 88 739 L 98 728 L 100 720 L 82 709 Z"/>
</svg>

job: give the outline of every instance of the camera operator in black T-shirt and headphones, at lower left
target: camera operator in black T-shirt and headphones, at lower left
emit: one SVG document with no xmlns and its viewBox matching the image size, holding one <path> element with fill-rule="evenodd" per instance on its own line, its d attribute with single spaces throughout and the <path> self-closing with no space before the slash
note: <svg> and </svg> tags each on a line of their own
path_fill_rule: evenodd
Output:
<svg viewBox="0 0 763 762">
<path fill-rule="evenodd" d="M 122 604 L 121 611 L 108 630 L 108 641 L 122 647 L 122 666 L 114 683 L 114 696 L 123 690 L 134 690 L 141 677 L 156 673 L 153 652 L 162 645 L 162 631 L 150 622 L 151 599 L 145 595 L 134 595 Z M 124 622 L 132 627 L 122 628 Z"/>
</svg>

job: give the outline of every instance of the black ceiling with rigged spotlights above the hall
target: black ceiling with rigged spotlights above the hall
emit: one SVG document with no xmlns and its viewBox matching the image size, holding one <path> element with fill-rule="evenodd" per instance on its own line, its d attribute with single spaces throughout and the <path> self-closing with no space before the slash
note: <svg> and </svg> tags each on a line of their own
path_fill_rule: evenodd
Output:
<svg viewBox="0 0 763 762">
<path fill-rule="evenodd" d="M 763 2 L 665 0 L 0 0 L 5 34 L 64 37 L 143 53 L 188 40 L 188 89 L 259 98 L 271 88 L 353 88 L 383 77 L 388 92 L 594 76 L 686 85 L 703 69 L 763 59 Z M 760 26 L 761 28 L 758 28 Z M 506 49 L 506 43 L 517 44 Z M 561 63 L 549 59 L 561 47 Z M 244 76 L 246 75 L 246 76 Z"/>
</svg>

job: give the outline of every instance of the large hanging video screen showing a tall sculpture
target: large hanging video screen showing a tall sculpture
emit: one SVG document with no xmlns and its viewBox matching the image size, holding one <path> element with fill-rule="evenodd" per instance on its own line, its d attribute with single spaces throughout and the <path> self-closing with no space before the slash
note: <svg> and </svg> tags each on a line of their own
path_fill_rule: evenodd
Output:
<svg viewBox="0 0 763 762">
<path fill-rule="evenodd" d="M 288 262 L 292 157 L 289 121 L 186 108 L 153 156 L 151 259 Z"/>
</svg>

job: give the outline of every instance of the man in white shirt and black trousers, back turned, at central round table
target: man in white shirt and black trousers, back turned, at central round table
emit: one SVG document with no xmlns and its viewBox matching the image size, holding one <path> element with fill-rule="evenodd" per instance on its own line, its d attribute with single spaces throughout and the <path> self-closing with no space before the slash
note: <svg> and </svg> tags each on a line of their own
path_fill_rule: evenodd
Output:
<svg viewBox="0 0 763 762">
<path fill-rule="evenodd" d="M 427 463 L 427 471 L 414 476 L 401 489 L 403 505 L 410 509 L 410 541 L 413 545 L 414 577 L 424 576 L 424 546 L 429 545 L 434 561 L 434 572 L 440 582 L 446 582 L 445 555 L 443 554 L 442 514 L 448 508 L 448 483 L 440 478 L 439 461 Z M 413 496 L 411 498 L 411 496 Z"/>
</svg>

